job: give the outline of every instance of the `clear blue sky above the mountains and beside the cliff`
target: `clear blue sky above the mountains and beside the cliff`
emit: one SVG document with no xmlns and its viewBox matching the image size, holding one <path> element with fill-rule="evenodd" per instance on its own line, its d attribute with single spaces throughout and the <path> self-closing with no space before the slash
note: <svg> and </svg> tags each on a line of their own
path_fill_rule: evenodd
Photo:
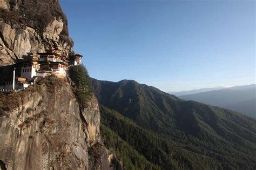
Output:
<svg viewBox="0 0 256 170">
<path fill-rule="evenodd" d="M 59 1 L 93 78 L 166 92 L 255 83 L 255 1 Z"/>
</svg>

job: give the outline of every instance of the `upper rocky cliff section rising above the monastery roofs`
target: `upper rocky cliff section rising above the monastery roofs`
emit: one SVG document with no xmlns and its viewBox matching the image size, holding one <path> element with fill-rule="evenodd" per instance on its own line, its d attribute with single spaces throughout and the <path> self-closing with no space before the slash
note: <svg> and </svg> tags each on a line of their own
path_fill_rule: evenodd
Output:
<svg viewBox="0 0 256 170">
<path fill-rule="evenodd" d="M 68 22 L 56 0 L 1 0 L 0 65 L 14 64 L 27 52 L 58 46 L 72 52 Z"/>
</svg>

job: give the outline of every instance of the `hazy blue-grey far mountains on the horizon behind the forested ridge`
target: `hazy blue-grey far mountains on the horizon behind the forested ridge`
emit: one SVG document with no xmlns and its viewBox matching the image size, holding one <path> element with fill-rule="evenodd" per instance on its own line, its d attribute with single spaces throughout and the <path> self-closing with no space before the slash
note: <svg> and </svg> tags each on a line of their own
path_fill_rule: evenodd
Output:
<svg viewBox="0 0 256 170">
<path fill-rule="evenodd" d="M 178 97 L 227 108 L 256 118 L 256 84 L 234 86 Z"/>
</svg>

